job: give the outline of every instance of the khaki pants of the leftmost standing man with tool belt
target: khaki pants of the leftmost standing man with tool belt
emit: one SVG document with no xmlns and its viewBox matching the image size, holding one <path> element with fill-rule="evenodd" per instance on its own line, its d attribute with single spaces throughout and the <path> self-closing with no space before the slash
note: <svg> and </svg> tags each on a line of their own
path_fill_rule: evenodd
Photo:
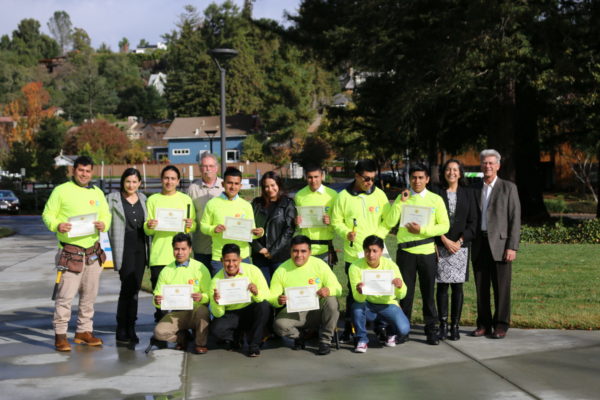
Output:
<svg viewBox="0 0 600 400">
<path fill-rule="evenodd" d="M 60 255 L 62 249 L 57 254 Z M 79 294 L 76 332 L 92 332 L 94 330 L 94 303 L 100 286 L 102 267 L 98 261 L 83 266 L 83 271 L 76 273 L 65 271 L 58 286 L 54 303 L 52 325 L 57 335 L 66 334 L 71 319 L 71 305 L 75 295 Z"/>
</svg>

